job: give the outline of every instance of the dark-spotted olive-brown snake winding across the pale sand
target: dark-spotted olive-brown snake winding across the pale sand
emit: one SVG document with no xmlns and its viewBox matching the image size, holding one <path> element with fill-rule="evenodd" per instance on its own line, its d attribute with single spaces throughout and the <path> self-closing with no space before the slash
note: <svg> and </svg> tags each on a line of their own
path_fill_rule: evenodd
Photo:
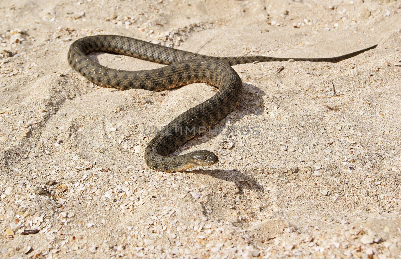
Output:
<svg viewBox="0 0 401 259">
<path fill-rule="evenodd" d="M 164 91 L 191 83 L 206 83 L 218 88 L 219 91 L 211 98 L 186 110 L 156 132 L 156 136 L 146 147 L 144 160 L 149 168 L 159 172 L 181 172 L 193 166 L 211 166 L 219 162 L 216 154 L 209 150 L 198 150 L 178 156 L 169 155 L 194 136 L 201 134 L 203 129 L 217 125 L 239 105 L 243 84 L 231 66 L 291 60 L 335 63 L 376 46 L 330 58 L 212 57 L 126 36 L 97 35 L 75 40 L 69 48 L 67 60 L 75 71 L 101 87 Z M 87 54 L 91 52 L 128 55 L 166 66 L 144 71 L 111 69 L 89 59 Z"/>
</svg>

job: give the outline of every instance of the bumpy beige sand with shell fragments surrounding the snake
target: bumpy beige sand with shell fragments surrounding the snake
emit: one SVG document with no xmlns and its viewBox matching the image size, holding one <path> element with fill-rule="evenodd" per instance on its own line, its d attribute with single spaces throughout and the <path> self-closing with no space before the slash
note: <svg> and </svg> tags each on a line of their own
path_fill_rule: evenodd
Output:
<svg viewBox="0 0 401 259">
<path fill-rule="evenodd" d="M 0 12 L 0 257 L 400 258 L 399 1 L 3 0 Z M 234 66 L 243 101 L 219 127 L 259 134 L 195 138 L 175 154 L 213 150 L 219 164 L 162 174 L 144 163 L 143 127 L 215 89 L 97 87 L 67 64 L 96 34 L 215 56 L 378 47 Z"/>
</svg>

